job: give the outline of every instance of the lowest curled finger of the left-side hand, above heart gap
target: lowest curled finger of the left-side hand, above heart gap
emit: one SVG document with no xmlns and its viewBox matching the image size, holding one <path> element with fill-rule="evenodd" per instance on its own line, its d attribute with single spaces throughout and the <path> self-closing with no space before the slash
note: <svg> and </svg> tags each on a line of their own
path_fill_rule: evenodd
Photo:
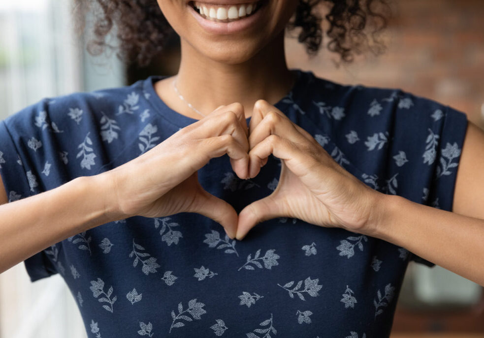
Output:
<svg viewBox="0 0 484 338">
<path fill-rule="evenodd" d="M 203 142 L 202 152 L 207 154 L 209 158 L 220 157 L 227 154 L 228 157 L 230 157 L 232 168 L 237 176 L 241 179 L 246 179 L 248 177 L 249 155 L 247 154 L 246 149 L 242 148 L 240 143 L 235 140 L 235 137 L 229 134 L 224 134 L 201 141 Z M 203 163 L 206 162 L 206 160 L 203 161 Z"/>
</svg>

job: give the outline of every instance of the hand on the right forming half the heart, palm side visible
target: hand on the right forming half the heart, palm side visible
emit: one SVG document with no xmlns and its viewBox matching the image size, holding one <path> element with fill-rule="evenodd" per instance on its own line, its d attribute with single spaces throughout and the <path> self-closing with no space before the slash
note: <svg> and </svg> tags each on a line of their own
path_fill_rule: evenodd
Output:
<svg viewBox="0 0 484 338">
<path fill-rule="evenodd" d="M 236 238 L 276 217 L 368 233 L 384 194 L 341 167 L 304 129 L 267 101 L 254 105 L 249 124 L 249 175 L 255 177 L 270 154 L 281 159 L 277 188 L 239 213 Z M 373 214 L 372 214 L 373 213 Z"/>
</svg>

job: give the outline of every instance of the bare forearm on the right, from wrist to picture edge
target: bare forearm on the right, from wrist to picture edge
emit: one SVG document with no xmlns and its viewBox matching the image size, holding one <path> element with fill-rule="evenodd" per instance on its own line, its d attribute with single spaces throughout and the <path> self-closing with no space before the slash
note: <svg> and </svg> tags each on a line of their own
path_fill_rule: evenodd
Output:
<svg viewBox="0 0 484 338">
<path fill-rule="evenodd" d="M 484 220 L 385 195 L 373 237 L 484 285 Z"/>
</svg>

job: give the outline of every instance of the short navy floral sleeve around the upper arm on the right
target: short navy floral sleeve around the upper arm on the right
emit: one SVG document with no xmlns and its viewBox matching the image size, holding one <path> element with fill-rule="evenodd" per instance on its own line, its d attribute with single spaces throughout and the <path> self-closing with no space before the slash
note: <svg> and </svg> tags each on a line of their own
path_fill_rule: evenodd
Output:
<svg viewBox="0 0 484 338">
<path fill-rule="evenodd" d="M 464 143 L 467 131 L 467 115 L 451 107 L 443 106 L 433 112 L 432 118 L 440 127 L 438 138 L 428 136 L 426 144 L 437 141 L 438 147 L 435 154 L 433 175 L 429 188 L 423 190 L 424 199 L 427 205 L 452 212 L 452 203 L 457 178 L 457 170 L 460 161 L 462 145 Z M 441 120 L 441 121 L 439 121 Z M 432 139 L 432 140 L 429 140 Z M 436 140 L 435 140 L 436 139 Z M 429 146 L 423 153 L 423 160 L 429 161 Z M 427 266 L 434 266 L 431 263 L 415 254 L 412 254 L 411 260 Z"/>
</svg>

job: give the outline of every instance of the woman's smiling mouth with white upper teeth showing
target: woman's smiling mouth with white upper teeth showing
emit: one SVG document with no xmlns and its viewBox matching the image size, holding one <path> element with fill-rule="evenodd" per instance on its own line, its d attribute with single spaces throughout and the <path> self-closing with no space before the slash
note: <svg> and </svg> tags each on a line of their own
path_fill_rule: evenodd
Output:
<svg viewBox="0 0 484 338">
<path fill-rule="evenodd" d="M 188 4 L 206 20 L 228 23 L 253 15 L 263 3 L 264 0 L 232 5 L 213 4 L 201 1 L 190 1 Z"/>
</svg>

